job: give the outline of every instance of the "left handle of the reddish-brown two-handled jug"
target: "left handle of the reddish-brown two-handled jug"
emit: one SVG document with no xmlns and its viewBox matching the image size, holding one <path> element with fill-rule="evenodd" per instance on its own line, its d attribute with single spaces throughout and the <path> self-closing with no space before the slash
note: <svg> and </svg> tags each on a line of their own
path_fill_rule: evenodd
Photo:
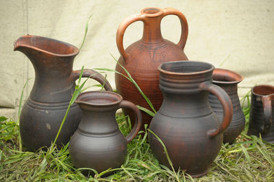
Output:
<svg viewBox="0 0 274 182">
<path fill-rule="evenodd" d="M 127 57 L 127 53 L 125 52 L 125 49 L 123 46 L 123 38 L 124 38 L 124 34 L 125 34 L 125 29 L 127 29 L 127 27 L 130 24 L 132 24 L 136 21 L 145 21 L 145 15 L 144 14 L 136 14 L 136 15 L 132 15 L 132 16 L 125 18 L 125 20 L 119 25 L 117 32 L 116 32 L 117 48 L 118 48 L 120 54 L 122 55 L 122 57 L 124 58 L 124 60 L 126 60 L 126 57 Z"/>
</svg>

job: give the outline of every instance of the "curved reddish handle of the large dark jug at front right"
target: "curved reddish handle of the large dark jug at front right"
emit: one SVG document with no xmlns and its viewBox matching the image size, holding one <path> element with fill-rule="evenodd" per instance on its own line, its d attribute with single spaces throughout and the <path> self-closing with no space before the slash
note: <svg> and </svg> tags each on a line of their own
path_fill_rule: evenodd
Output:
<svg viewBox="0 0 274 182">
<path fill-rule="evenodd" d="M 199 88 L 201 91 L 212 92 L 212 94 L 214 94 L 219 99 L 223 107 L 223 122 L 221 123 L 218 129 L 210 129 L 208 131 L 208 135 L 210 137 L 214 137 L 218 135 L 219 133 L 225 131 L 225 129 L 229 126 L 230 122 L 232 121 L 232 114 L 233 114 L 232 101 L 230 100 L 225 90 L 223 90 L 219 86 L 216 86 L 212 83 L 209 83 L 209 82 L 201 83 Z"/>
</svg>

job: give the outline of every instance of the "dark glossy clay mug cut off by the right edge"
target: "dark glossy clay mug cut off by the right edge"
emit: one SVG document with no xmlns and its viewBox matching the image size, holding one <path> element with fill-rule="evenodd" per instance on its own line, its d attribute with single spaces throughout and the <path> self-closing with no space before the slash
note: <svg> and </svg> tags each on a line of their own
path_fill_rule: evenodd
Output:
<svg viewBox="0 0 274 182">
<path fill-rule="evenodd" d="M 262 139 L 274 143 L 274 86 L 260 85 L 251 89 L 248 135 L 262 135 Z"/>
</svg>

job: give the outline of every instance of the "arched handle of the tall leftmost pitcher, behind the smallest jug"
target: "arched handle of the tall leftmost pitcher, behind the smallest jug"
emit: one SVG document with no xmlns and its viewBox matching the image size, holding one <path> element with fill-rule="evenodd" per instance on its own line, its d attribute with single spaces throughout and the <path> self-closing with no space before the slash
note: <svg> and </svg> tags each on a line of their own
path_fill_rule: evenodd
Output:
<svg viewBox="0 0 274 182">
<path fill-rule="evenodd" d="M 81 71 L 82 70 L 73 70 L 73 73 L 72 73 L 73 81 L 75 81 L 76 79 L 79 79 Z M 103 75 L 101 75 L 97 71 L 91 70 L 91 69 L 84 69 L 82 77 L 95 79 L 96 81 L 101 83 L 101 85 L 103 86 L 103 88 L 105 88 L 105 90 L 112 92 L 112 86 L 110 86 L 110 83 L 108 82 L 108 80 L 105 79 L 105 77 L 103 77 Z"/>
</svg>

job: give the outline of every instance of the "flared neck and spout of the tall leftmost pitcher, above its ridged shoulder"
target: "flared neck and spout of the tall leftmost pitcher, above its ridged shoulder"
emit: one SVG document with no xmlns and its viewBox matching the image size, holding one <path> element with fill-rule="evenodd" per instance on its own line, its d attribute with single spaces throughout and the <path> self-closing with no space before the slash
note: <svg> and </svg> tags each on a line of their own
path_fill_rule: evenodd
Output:
<svg viewBox="0 0 274 182">
<path fill-rule="evenodd" d="M 21 51 L 32 62 L 35 81 L 29 95 L 34 101 L 58 103 L 71 99 L 74 81 L 73 60 L 79 49 L 71 44 L 40 36 L 22 36 L 14 42 L 14 51 Z"/>
</svg>

